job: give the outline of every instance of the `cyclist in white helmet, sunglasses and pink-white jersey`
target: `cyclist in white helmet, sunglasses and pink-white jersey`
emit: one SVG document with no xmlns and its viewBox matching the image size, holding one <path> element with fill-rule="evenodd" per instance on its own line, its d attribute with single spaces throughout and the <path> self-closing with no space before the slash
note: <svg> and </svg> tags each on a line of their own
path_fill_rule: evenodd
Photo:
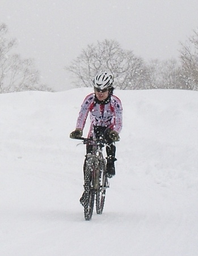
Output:
<svg viewBox="0 0 198 256">
<path fill-rule="evenodd" d="M 82 136 L 90 112 L 91 125 L 88 137 L 97 139 L 102 137 L 108 145 L 106 146 L 108 178 L 115 175 L 115 141 L 120 140 L 119 133 L 123 123 L 123 108 L 120 99 L 113 95 L 113 81 L 113 75 L 107 72 L 96 75 L 93 80 L 94 93 L 86 96 L 79 111 L 75 131 L 70 133 L 71 139 Z M 87 145 L 87 154 L 91 153 L 91 150 L 92 146 Z"/>
</svg>

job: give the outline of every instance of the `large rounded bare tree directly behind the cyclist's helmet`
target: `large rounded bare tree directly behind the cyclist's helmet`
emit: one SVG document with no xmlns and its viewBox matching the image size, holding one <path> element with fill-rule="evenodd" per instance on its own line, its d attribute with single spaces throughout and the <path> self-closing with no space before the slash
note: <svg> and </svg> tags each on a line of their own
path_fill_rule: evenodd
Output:
<svg viewBox="0 0 198 256">
<path fill-rule="evenodd" d="M 76 87 L 92 86 L 92 79 L 103 71 L 114 75 L 115 87 L 120 89 L 146 89 L 149 83 L 148 69 L 142 58 L 132 51 L 124 51 L 115 40 L 88 45 L 65 69 L 73 74 Z"/>
</svg>

